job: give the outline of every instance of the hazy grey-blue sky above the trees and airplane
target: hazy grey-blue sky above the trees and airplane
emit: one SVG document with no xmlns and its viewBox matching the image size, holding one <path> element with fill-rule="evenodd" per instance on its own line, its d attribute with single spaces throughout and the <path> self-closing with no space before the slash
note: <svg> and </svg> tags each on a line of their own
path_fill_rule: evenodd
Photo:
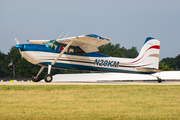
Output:
<svg viewBox="0 0 180 120">
<path fill-rule="evenodd" d="M 0 0 L 0 51 L 17 37 L 57 39 L 97 34 L 125 48 L 160 40 L 160 60 L 180 54 L 180 0 Z"/>
</svg>

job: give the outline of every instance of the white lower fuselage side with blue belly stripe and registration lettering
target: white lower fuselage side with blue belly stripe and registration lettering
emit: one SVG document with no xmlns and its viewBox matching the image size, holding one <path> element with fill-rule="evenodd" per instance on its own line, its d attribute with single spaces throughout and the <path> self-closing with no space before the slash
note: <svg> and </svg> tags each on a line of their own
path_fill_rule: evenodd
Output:
<svg viewBox="0 0 180 120">
<path fill-rule="evenodd" d="M 48 66 L 48 64 L 51 64 L 59 55 L 58 53 L 39 51 L 22 51 L 21 54 L 29 62 L 42 66 Z M 139 73 L 139 71 L 136 70 L 138 66 L 131 63 L 133 61 L 134 59 L 127 58 L 87 57 L 63 54 L 53 67 L 89 71 Z"/>
</svg>

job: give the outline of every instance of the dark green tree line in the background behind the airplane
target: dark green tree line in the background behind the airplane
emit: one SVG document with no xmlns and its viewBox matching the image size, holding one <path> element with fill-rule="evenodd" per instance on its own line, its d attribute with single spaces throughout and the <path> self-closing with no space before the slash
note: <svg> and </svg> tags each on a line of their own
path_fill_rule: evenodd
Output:
<svg viewBox="0 0 180 120">
<path fill-rule="evenodd" d="M 120 47 L 120 44 L 108 44 L 102 45 L 99 48 L 99 53 L 105 54 L 112 57 L 122 57 L 122 58 L 135 58 L 138 56 L 138 51 L 136 47 L 131 47 L 126 49 L 125 47 Z M 40 66 L 31 64 L 27 60 L 21 57 L 18 50 L 11 47 L 10 52 L 4 54 L 0 51 L 0 78 L 2 77 L 13 77 L 13 66 L 8 67 L 9 63 L 13 61 L 15 65 L 15 76 L 16 78 L 21 77 L 32 77 L 33 74 L 37 74 L 40 70 Z M 161 70 L 180 70 L 180 54 L 175 58 L 164 58 L 159 62 L 159 69 Z M 51 74 L 59 74 L 62 70 L 52 69 Z M 84 71 L 74 71 L 74 70 L 63 70 L 63 73 L 79 73 Z M 47 68 L 43 70 L 40 77 L 44 77 L 47 74 Z"/>
</svg>

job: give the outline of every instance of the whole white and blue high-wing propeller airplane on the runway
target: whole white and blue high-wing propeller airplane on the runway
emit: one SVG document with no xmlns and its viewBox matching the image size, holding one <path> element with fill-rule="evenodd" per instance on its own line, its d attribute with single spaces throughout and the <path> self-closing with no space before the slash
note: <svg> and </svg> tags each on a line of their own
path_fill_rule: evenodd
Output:
<svg viewBox="0 0 180 120">
<path fill-rule="evenodd" d="M 17 38 L 15 40 L 15 48 L 22 57 L 32 64 L 42 66 L 40 71 L 32 76 L 34 82 L 40 81 L 39 75 L 45 67 L 48 67 L 48 74 L 44 77 L 46 82 L 53 79 L 51 68 L 140 74 L 160 72 L 160 42 L 152 37 L 146 38 L 139 55 L 134 59 L 97 53 L 97 47 L 110 39 L 95 34 L 56 40 L 28 40 L 32 44 L 19 44 Z M 161 82 L 159 77 L 157 79 Z"/>
</svg>

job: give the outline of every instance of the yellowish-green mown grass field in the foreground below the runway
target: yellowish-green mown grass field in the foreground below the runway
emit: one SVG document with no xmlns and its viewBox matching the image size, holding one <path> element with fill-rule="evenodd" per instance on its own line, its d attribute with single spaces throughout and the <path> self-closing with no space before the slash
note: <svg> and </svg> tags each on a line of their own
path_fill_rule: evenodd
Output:
<svg viewBox="0 0 180 120">
<path fill-rule="evenodd" d="M 0 119 L 180 119 L 180 86 L 0 85 Z"/>
</svg>

